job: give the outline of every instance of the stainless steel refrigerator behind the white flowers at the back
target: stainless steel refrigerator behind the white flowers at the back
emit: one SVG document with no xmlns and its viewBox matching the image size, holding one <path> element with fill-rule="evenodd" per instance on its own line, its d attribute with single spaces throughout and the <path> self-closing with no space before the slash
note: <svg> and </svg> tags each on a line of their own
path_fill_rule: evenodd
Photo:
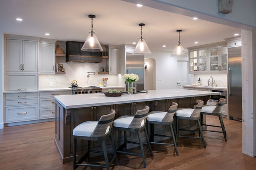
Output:
<svg viewBox="0 0 256 170">
<path fill-rule="evenodd" d="M 137 74 L 139 80 L 134 85 L 137 85 L 137 91 L 144 91 L 144 55 L 134 55 L 126 53 L 126 74 Z"/>
</svg>

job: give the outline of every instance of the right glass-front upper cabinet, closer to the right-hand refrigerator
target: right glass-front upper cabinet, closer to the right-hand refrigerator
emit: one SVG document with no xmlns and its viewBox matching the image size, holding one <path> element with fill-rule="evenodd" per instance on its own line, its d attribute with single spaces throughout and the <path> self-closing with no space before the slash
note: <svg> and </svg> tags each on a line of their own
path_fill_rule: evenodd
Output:
<svg viewBox="0 0 256 170">
<path fill-rule="evenodd" d="M 209 72 L 227 72 L 227 46 L 209 48 Z"/>
</svg>

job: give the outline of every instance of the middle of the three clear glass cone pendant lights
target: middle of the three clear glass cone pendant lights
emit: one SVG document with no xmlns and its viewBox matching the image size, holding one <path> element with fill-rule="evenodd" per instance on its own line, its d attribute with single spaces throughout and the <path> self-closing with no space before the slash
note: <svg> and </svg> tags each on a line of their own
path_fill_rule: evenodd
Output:
<svg viewBox="0 0 256 170">
<path fill-rule="evenodd" d="M 142 27 L 145 26 L 145 24 L 140 23 L 139 26 L 141 26 L 141 37 L 134 49 L 133 54 L 139 54 L 139 55 L 151 54 L 151 51 L 149 50 L 148 45 L 146 44 L 144 38 L 142 38 Z"/>
</svg>

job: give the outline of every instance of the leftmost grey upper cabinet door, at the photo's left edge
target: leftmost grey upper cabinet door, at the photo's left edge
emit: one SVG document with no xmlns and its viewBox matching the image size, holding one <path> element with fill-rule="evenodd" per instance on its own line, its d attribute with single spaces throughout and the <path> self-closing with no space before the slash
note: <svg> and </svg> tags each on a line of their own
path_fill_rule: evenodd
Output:
<svg viewBox="0 0 256 170">
<path fill-rule="evenodd" d="M 22 71 L 22 41 L 6 39 L 6 72 Z"/>
</svg>

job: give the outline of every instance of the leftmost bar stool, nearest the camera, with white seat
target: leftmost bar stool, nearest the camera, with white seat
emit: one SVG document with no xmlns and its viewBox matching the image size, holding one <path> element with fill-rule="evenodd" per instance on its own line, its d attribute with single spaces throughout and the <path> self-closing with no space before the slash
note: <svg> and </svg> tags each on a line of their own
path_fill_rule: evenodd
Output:
<svg viewBox="0 0 256 170">
<path fill-rule="evenodd" d="M 79 166 L 85 167 L 106 167 L 109 170 L 109 166 L 116 159 L 116 164 L 118 165 L 118 160 L 116 157 L 115 147 L 113 145 L 113 141 L 111 138 L 111 128 L 113 124 L 113 120 L 115 117 L 116 111 L 111 110 L 109 114 L 103 115 L 100 117 L 99 121 L 87 121 L 79 124 L 73 130 L 73 170 L 76 170 Z M 108 153 L 106 149 L 105 139 L 109 136 L 111 145 L 113 147 L 113 158 L 110 162 L 108 162 Z M 87 140 L 87 153 L 81 157 L 79 161 L 76 162 L 76 140 L 82 139 Z M 90 150 L 90 141 L 102 141 L 103 152 L 97 150 Z M 82 162 L 89 159 L 89 153 L 103 153 L 105 158 L 105 165 L 102 164 L 82 164 Z"/>
</svg>

